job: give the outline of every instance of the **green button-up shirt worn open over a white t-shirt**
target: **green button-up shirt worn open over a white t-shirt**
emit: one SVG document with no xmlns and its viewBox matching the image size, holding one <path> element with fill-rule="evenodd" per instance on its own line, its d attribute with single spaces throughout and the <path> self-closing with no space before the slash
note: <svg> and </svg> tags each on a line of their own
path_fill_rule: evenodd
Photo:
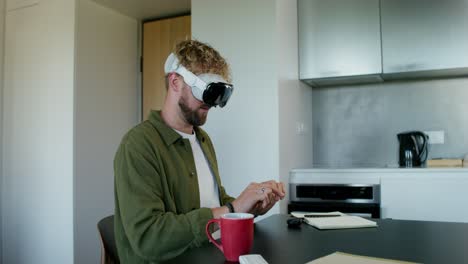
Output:
<svg viewBox="0 0 468 264">
<path fill-rule="evenodd" d="M 218 184 L 220 204 L 234 198 L 221 185 L 208 134 L 194 128 Z M 213 217 L 200 208 L 190 142 L 167 126 L 159 111 L 131 129 L 114 159 L 115 239 L 122 263 L 157 263 L 207 241 Z"/>
</svg>

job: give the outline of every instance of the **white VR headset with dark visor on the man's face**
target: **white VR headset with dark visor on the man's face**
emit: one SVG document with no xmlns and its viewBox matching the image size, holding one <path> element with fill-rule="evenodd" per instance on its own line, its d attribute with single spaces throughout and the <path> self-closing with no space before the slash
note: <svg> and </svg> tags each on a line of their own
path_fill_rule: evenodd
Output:
<svg viewBox="0 0 468 264">
<path fill-rule="evenodd" d="M 224 107 L 234 91 L 234 86 L 218 74 L 204 73 L 198 76 L 193 74 L 179 63 L 174 53 L 167 57 L 164 72 L 166 74 L 175 72 L 184 77 L 185 83 L 192 89 L 193 96 L 209 106 Z"/>
</svg>

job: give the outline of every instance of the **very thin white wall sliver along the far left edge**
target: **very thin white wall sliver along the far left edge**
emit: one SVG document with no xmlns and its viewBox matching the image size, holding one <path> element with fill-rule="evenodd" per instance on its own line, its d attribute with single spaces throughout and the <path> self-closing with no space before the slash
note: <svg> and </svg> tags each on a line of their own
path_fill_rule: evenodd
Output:
<svg viewBox="0 0 468 264">
<path fill-rule="evenodd" d="M 3 258 L 3 43 L 5 0 L 0 0 L 0 262 Z"/>
</svg>

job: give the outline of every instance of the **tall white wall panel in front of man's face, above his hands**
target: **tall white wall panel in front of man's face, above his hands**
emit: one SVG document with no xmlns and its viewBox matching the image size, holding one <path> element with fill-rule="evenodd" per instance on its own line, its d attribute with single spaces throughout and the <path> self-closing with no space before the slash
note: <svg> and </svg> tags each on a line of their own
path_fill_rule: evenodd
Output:
<svg viewBox="0 0 468 264">
<path fill-rule="evenodd" d="M 193 37 L 211 44 L 232 67 L 231 100 L 210 111 L 205 129 L 233 196 L 252 181 L 278 180 L 275 25 L 271 0 L 192 1 Z"/>
</svg>

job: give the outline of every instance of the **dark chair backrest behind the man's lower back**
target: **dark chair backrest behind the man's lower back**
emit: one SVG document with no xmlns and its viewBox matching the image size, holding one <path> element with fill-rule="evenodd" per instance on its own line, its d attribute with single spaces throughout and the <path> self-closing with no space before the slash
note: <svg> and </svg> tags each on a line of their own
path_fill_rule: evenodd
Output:
<svg viewBox="0 0 468 264">
<path fill-rule="evenodd" d="M 120 263 L 114 237 L 114 215 L 104 217 L 98 222 L 101 238 L 101 264 Z"/>
</svg>

